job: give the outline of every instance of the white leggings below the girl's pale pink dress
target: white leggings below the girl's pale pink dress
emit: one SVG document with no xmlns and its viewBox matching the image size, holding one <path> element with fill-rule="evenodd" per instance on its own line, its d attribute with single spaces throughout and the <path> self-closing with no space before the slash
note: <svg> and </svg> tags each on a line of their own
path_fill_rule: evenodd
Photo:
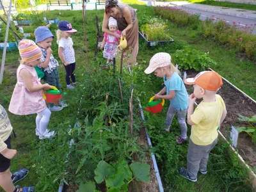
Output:
<svg viewBox="0 0 256 192">
<path fill-rule="evenodd" d="M 48 108 L 45 108 L 43 111 L 37 113 L 36 116 L 36 129 L 40 134 L 44 134 L 46 131 L 47 125 L 51 117 L 51 111 Z"/>
</svg>

